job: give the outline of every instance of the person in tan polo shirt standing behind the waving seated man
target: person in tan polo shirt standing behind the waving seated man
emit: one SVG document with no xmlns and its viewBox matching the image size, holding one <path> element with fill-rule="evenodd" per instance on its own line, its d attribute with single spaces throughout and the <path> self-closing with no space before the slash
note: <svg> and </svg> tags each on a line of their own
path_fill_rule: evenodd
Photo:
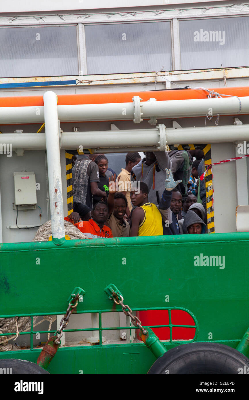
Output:
<svg viewBox="0 0 249 400">
<path fill-rule="evenodd" d="M 125 157 L 125 168 L 121 169 L 120 174 L 118 174 L 118 185 L 119 192 L 125 195 L 127 200 L 126 215 L 129 216 L 132 210 L 132 204 L 130 199 L 131 193 L 131 170 L 141 161 L 139 153 L 127 153 Z"/>
</svg>

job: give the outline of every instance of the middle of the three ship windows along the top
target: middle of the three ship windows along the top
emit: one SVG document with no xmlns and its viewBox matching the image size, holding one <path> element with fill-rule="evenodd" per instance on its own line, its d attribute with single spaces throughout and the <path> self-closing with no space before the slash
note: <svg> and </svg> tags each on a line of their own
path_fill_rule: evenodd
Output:
<svg viewBox="0 0 249 400">
<path fill-rule="evenodd" d="M 85 26 L 88 74 L 172 70 L 170 22 Z"/>
</svg>

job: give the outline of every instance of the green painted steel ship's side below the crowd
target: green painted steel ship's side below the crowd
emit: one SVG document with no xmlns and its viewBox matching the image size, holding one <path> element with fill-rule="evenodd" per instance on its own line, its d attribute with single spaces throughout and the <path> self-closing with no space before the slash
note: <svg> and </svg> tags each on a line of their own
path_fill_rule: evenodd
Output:
<svg viewBox="0 0 249 400">
<path fill-rule="evenodd" d="M 169 340 L 163 343 L 167 350 L 179 345 L 174 340 L 181 337 L 175 336 L 177 327 L 179 330 L 195 328 L 195 338 L 187 336 L 193 338 L 192 341 L 236 348 L 249 321 L 248 245 L 249 232 L 67 240 L 60 247 L 52 242 L 3 244 L 0 245 L 0 314 L 2 317 L 30 316 L 32 320 L 34 316 L 64 315 L 72 288 L 81 286 L 86 295 L 84 302 L 77 306 L 77 314 L 98 313 L 100 324 L 92 328 L 91 323 L 86 325 L 84 318 L 84 325 L 79 325 L 84 328 L 65 328 L 65 332 L 99 331 L 100 345 L 61 346 L 48 370 L 54 374 L 78 374 L 79 370 L 84 370 L 84 374 L 113 374 L 116 373 L 115 358 L 120 374 L 147 373 L 155 356 L 143 343 L 127 343 L 129 340 L 122 340 L 118 345 L 102 343 L 101 332 L 126 329 L 130 336 L 129 330 L 134 329 L 117 326 L 129 325 L 129 322 L 111 322 L 113 328 L 106 328 L 107 315 L 103 313 L 122 311 L 121 306 L 110 303 L 104 293 L 106 285 L 115 282 L 133 311 L 191 310 L 198 324 L 190 312 L 191 326 L 174 320 L 173 312 L 168 319 L 165 312 L 165 325 L 154 325 L 167 330 Z M 209 258 L 222 256 L 225 264 L 222 268 L 196 265 L 196 256 L 202 254 Z M 179 324 L 173 324 L 172 319 Z M 20 332 L 20 335 L 30 335 L 31 351 L 0 352 L 0 359 L 36 362 L 41 349 L 34 347 L 37 340 L 32 335 L 38 331 L 35 323 L 31 321 L 29 332 Z M 55 322 L 52 326 L 56 330 Z M 48 330 L 42 332 L 49 333 Z M 10 338 L 6 333 L 1 336 Z"/>
</svg>

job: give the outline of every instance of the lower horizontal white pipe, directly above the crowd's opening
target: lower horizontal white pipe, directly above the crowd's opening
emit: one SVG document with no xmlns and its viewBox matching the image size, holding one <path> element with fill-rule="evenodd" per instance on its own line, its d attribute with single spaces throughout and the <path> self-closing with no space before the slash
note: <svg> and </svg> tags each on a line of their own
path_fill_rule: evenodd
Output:
<svg viewBox="0 0 249 400">
<path fill-rule="evenodd" d="M 145 151 L 151 148 L 153 151 L 163 150 L 165 148 L 165 145 L 163 147 L 163 142 L 168 145 L 175 143 L 233 142 L 234 140 L 249 140 L 249 125 L 165 128 L 165 139 L 162 140 L 162 137 L 159 136 L 159 130 L 156 128 L 101 132 L 63 132 L 61 134 L 61 148 L 70 150 L 83 146 L 84 149 L 103 149 L 105 152 L 108 152 L 109 149 L 122 152 L 126 151 L 126 149 L 129 149 L 127 151 Z M 0 141 L 2 145 L 12 144 L 13 149 L 46 149 L 44 133 L 1 134 Z"/>
</svg>

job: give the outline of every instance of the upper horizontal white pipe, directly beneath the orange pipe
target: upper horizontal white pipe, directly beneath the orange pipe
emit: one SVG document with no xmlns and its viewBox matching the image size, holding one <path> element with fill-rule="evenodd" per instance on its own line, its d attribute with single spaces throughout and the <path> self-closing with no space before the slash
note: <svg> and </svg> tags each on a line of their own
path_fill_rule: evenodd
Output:
<svg viewBox="0 0 249 400">
<path fill-rule="evenodd" d="M 101 99 L 101 96 L 100 96 Z M 241 102 L 241 103 L 240 103 Z M 249 96 L 190 100 L 163 100 L 130 103 L 75 104 L 58 106 L 61 122 L 133 120 L 136 111 L 141 120 L 151 117 L 179 118 L 189 116 L 248 114 Z M 209 114 L 210 115 L 210 114 Z M 1 107 L 1 124 L 40 123 L 44 121 L 44 107 Z M 140 122 L 138 119 L 137 122 Z"/>
</svg>

